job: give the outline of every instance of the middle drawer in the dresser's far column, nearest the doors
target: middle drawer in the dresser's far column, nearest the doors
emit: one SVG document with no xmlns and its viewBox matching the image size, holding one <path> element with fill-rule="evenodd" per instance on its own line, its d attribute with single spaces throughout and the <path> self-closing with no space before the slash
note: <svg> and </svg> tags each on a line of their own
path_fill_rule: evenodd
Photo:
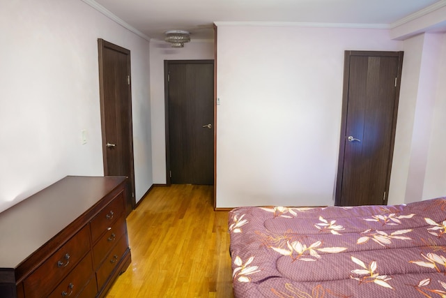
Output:
<svg viewBox="0 0 446 298">
<path fill-rule="evenodd" d="M 125 214 L 121 214 L 112 227 L 107 228 L 107 232 L 100 237 L 99 241 L 93 247 L 95 268 L 98 268 L 102 260 L 104 260 L 109 251 L 118 242 L 118 239 L 121 239 L 122 235 L 125 234 L 126 230 Z"/>
</svg>

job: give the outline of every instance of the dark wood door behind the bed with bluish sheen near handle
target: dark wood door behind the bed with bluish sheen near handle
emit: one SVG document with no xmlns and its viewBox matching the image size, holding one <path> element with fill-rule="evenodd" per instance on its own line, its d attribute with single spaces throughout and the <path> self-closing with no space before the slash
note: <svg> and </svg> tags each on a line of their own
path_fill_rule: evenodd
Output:
<svg viewBox="0 0 446 298">
<path fill-rule="evenodd" d="M 387 204 L 403 52 L 346 51 L 336 204 Z"/>
</svg>

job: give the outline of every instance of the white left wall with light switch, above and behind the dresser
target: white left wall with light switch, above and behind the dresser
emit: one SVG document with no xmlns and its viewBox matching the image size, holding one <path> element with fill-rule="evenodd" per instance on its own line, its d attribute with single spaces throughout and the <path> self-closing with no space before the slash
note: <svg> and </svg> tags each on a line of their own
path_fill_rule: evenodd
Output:
<svg viewBox="0 0 446 298">
<path fill-rule="evenodd" d="M 58 0 L 2 1 L 0 36 L 0 211 L 66 175 L 103 174 L 98 38 L 131 51 L 139 200 L 153 184 L 148 41 Z"/>
</svg>

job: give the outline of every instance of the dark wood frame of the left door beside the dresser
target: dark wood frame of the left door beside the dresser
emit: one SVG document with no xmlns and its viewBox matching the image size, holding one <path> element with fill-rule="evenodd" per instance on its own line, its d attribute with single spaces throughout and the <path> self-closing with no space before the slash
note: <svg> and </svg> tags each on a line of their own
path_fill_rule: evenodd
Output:
<svg viewBox="0 0 446 298">
<path fill-rule="evenodd" d="M 130 177 L 128 177 L 130 181 L 130 187 L 131 187 L 131 199 L 130 202 L 132 204 L 132 210 L 134 209 L 134 206 L 136 204 L 135 199 L 135 189 L 134 189 L 134 155 L 133 155 L 133 128 L 132 128 L 132 80 L 131 80 L 131 71 L 130 71 L 130 50 L 125 49 L 124 47 L 120 47 L 118 45 L 115 45 L 113 43 L 109 43 L 106 40 L 103 40 L 102 38 L 98 38 L 98 59 L 99 59 L 99 97 L 100 97 L 100 122 L 101 122 L 101 134 L 102 134 L 102 163 L 104 165 L 104 175 L 108 175 L 108 165 L 107 165 L 107 147 L 105 146 L 107 142 L 107 136 L 105 134 L 105 98 L 104 98 L 104 65 L 103 65 L 103 56 L 104 52 L 103 50 L 105 48 L 110 48 L 112 50 L 116 50 L 117 52 L 122 52 L 123 54 L 127 55 L 127 68 L 128 68 L 128 75 L 129 75 L 129 84 L 128 84 L 128 135 L 129 135 L 129 142 L 128 144 L 125 144 L 128 146 L 129 152 L 130 152 Z M 126 201 L 128 199 L 126 198 Z M 127 202 L 125 203 L 127 206 Z M 130 210 L 131 211 L 131 210 Z M 127 211 L 129 214 L 130 212 Z M 128 215 L 127 214 L 127 215 Z"/>
</svg>

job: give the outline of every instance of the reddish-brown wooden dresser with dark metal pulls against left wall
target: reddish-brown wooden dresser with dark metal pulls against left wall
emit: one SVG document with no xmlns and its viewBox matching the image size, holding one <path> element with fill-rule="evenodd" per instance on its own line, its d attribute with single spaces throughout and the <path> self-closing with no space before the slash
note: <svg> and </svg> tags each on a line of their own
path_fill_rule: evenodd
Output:
<svg viewBox="0 0 446 298">
<path fill-rule="evenodd" d="M 0 297 L 104 297 L 131 262 L 125 177 L 68 176 L 0 213 Z"/>
</svg>

